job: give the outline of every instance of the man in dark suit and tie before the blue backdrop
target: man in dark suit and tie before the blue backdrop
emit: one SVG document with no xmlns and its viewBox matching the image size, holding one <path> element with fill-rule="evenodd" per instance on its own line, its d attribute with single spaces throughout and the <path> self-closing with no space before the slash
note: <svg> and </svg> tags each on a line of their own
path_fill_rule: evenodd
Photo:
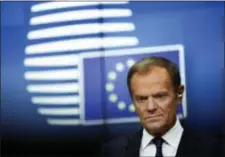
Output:
<svg viewBox="0 0 225 157">
<path fill-rule="evenodd" d="M 104 145 L 102 157 L 219 156 L 214 139 L 183 128 L 177 118 L 184 86 L 174 63 L 144 58 L 129 70 L 127 85 L 143 128 Z"/>
</svg>

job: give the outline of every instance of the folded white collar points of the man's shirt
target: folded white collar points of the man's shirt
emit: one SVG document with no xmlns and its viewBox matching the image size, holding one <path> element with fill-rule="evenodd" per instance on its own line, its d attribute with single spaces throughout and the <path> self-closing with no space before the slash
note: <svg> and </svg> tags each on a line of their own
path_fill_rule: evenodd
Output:
<svg viewBox="0 0 225 157">
<path fill-rule="evenodd" d="M 180 143 L 182 133 L 183 133 L 183 128 L 180 124 L 180 121 L 177 118 L 175 125 L 166 134 L 164 134 L 162 138 L 166 141 L 166 143 L 168 143 L 169 145 L 177 149 Z M 141 148 L 145 149 L 146 146 L 149 144 L 150 141 L 152 141 L 153 138 L 154 136 L 149 134 L 144 128 L 142 141 L 141 141 Z"/>
</svg>

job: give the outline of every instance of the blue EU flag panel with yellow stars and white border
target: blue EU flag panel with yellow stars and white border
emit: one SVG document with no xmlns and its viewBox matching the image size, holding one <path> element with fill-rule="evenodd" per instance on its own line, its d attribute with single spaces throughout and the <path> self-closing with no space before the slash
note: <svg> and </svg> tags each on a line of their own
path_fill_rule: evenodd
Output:
<svg viewBox="0 0 225 157">
<path fill-rule="evenodd" d="M 127 73 L 137 61 L 147 56 L 162 56 L 178 65 L 185 84 L 183 47 L 170 45 L 149 48 L 111 50 L 82 55 L 83 120 L 87 123 L 137 121 L 134 104 L 127 87 Z M 186 96 L 177 109 L 186 116 Z M 132 121 L 131 120 L 131 121 Z"/>
</svg>

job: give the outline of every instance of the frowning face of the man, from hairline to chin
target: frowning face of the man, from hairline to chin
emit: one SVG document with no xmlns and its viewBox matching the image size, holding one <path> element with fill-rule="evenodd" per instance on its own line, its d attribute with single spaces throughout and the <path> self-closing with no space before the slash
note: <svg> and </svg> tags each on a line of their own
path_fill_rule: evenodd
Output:
<svg viewBox="0 0 225 157">
<path fill-rule="evenodd" d="M 131 92 L 136 112 L 148 132 L 164 134 L 173 126 L 181 97 L 177 97 L 166 69 L 152 67 L 148 73 L 135 73 Z"/>
</svg>

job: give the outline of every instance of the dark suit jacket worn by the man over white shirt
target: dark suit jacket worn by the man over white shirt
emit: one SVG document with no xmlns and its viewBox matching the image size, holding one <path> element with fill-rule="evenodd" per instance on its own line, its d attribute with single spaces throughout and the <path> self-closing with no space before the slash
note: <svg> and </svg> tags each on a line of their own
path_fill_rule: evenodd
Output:
<svg viewBox="0 0 225 157">
<path fill-rule="evenodd" d="M 139 157 L 142 130 L 103 145 L 101 157 Z M 222 157 L 218 138 L 184 127 L 176 157 Z"/>
</svg>

